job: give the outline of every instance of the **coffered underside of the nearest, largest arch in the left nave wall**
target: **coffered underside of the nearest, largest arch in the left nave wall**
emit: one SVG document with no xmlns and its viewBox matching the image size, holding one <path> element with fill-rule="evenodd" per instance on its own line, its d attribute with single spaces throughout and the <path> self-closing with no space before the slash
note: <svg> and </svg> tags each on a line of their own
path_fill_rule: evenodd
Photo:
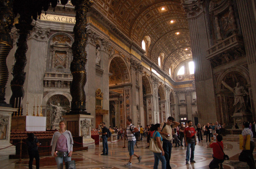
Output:
<svg viewBox="0 0 256 169">
<path fill-rule="evenodd" d="M 109 84 L 123 84 L 131 82 L 130 70 L 128 63 L 121 55 L 113 55 L 113 58 L 109 61 Z"/>
</svg>

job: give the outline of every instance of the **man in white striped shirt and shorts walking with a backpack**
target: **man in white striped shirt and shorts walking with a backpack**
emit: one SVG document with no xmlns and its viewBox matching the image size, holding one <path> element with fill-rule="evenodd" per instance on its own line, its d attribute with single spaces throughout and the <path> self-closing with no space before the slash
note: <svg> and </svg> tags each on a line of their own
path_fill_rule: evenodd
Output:
<svg viewBox="0 0 256 169">
<path fill-rule="evenodd" d="M 126 120 L 126 124 L 127 124 L 127 128 L 126 128 L 126 134 L 127 134 L 127 138 L 128 138 L 128 151 L 129 151 L 129 155 L 130 155 L 130 159 L 128 161 L 127 164 L 125 164 L 125 166 L 131 166 L 131 160 L 133 159 L 133 155 L 135 155 L 138 159 L 138 163 L 141 162 L 141 156 L 138 156 L 137 154 L 134 153 L 134 146 L 136 144 L 136 138 L 134 136 L 134 133 L 138 132 L 138 128 L 136 128 L 132 123 L 132 119 L 127 119 Z"/>
</svg>

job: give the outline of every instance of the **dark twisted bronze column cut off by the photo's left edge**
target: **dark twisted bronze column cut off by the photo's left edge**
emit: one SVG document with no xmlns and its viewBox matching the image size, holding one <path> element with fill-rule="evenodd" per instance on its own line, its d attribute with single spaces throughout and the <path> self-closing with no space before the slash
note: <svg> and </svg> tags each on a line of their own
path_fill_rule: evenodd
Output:
<svg viewBox="0 0 256 169">
<path fill-rule="evenodd" d="M 9 76 L 6 58 L 13 48 L 9 34 L 14 21 L 13 0 L 2 0 L 0 6 L 0 103 L 6 103 L 5 86 Z"/>
</svg>

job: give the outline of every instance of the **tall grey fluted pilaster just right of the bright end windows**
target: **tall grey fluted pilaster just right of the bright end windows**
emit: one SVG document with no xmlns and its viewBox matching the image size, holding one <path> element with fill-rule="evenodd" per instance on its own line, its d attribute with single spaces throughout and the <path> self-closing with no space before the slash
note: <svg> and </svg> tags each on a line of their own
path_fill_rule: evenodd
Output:
<svg viewBox="0 0 256 169">
<path fill-rule="evenodd" d="M 217 116 L 212 68 L 210 62 L 206 60 L 206 49 L 209 48 L 209 34 L 206 27 L 208 23 L 203 3 L 203 1 L 197 1 L 196 3 L 183 4 L 183 7 L 187 13 L 193 61 L 195 64 L 199 121 L 202 124 L 206 124 L 209 119 L 216 121 Z"/>
</svg>

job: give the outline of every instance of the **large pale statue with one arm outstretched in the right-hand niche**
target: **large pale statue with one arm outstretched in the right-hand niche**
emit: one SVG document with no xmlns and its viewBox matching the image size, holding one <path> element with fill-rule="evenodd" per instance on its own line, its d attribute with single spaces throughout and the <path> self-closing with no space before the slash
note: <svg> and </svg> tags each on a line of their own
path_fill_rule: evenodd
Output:
<svg viewBox="0 0 256 169">
<path fill-rule="evenodd" d="M 221 82 L 227 89 L 232 91 L 235 94 L 235 101 L 233 106 L 235 106 L 234 113 L 246 113 L 246 107 L 248 105 L 249 93 L 244 89 L 243 86 L 240 86 L 240 83 L 236 83 L 235 88 L 231 88 L 224 81 Z"/>
</svg>

